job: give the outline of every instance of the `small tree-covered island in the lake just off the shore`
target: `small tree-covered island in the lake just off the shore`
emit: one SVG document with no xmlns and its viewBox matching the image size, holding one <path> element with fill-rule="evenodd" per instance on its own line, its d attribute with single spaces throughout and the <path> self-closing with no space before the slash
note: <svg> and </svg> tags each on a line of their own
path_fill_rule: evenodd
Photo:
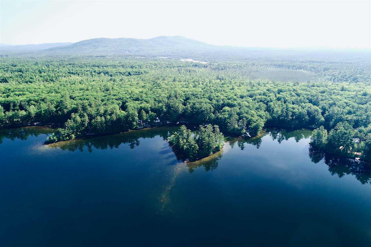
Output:
<svg viewBox="0 0 371 247">
<path fill-rule="evenodd" d="M 224 135 L 218 125 L 200 125 L 196 133 L 182 125 L 170 136 L 169 144 L 184 161 L 196 161 L 220 151 L 224 145 Z"/>
</svg>

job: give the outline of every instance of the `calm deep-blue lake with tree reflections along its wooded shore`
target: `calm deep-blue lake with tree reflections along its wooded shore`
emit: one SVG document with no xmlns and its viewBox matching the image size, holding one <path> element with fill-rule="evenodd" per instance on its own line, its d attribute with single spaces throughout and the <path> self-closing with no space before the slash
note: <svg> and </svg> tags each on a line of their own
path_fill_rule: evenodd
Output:
<svg viewBox="0 0 371 247">
<path fill-rule="evenodd" d="M 370 165 L 287 129 L 185 164 L 176 129 L 56 145 L 0 131 L 1 246 L 370 246 Z"/>
</svg>

